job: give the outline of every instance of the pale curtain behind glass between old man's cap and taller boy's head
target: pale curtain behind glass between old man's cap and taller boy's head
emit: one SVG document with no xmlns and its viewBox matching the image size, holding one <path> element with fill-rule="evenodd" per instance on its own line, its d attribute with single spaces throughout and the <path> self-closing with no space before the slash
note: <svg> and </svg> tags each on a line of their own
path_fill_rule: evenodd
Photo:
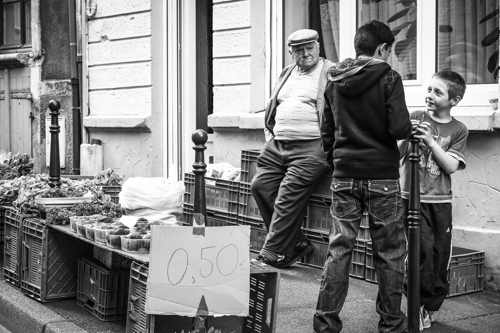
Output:
<svg viewBox="0 0 500 333">
<path fill-rule="evenodd" d="M 338 1 L 321 0 L 319 12 L 321 15 L 321 32 L 326 58 L 338 62 Z"/>
</svg>

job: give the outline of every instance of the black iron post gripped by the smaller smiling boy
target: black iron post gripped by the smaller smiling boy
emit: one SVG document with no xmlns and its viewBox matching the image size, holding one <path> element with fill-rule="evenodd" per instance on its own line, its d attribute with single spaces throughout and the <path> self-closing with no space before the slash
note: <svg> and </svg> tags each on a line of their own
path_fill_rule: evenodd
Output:
<svg viewBox="0 0 500 333">
<path fill-rule="evenodd" d="M 420 325 L 420 179 L 418 168 L 420 139 L 411 136 L 411 183 L 408 209 L 408 333 L 418 333 Z"/>
</svg>

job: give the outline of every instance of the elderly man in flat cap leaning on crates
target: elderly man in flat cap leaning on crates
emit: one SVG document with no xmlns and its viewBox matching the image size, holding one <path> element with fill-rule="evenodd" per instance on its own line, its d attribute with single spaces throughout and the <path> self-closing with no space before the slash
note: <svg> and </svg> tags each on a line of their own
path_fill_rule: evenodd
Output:
<svg viewBox="0 0 500 333">
<path fill-rule="evenodd" d="M 326 69 L 333 63 L 319 57 L 317 39 L 310 29 L 288 37 L 295 63 L 283 69 L 267 104 L 266 143 L 251 183 L 268 230 L 257 260 L 276 268 L 288 267 L 312 251 L 300 228 L 314 183 L 328 169 L 319 119 Z M 283 257 L 278 260 L 278 255 Z"/>
</svg>

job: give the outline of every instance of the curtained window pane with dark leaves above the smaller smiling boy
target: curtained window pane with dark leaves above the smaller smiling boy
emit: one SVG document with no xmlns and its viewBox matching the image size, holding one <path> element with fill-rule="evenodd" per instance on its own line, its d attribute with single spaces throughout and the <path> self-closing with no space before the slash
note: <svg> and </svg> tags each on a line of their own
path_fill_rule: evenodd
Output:
<svg viewBox="0 0 500 333">
<path fill-rule="evenodd" d="M 437 1 L 437 70 L 498 82 L 498 0 Z"/>
</svg>

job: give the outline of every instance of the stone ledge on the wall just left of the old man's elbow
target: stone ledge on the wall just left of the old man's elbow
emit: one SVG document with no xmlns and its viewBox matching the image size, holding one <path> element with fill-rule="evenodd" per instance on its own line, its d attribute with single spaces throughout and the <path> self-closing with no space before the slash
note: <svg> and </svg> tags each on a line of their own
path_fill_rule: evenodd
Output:
<svg viewBox="0 0 500 333">
<path fill-rule="evenodd" d="M 228 128 L 263 129 L 265 112 L 216 112 L 208 115 L 208 126 L 214 131 L 227 131 Z"/>
</svg>

